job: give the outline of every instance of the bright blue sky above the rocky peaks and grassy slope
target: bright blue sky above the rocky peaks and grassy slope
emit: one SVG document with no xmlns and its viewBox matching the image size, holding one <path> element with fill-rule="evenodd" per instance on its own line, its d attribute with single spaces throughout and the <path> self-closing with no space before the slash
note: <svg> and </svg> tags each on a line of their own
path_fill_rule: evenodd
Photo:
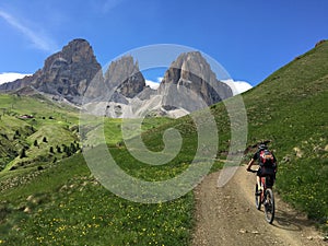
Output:
<svg viewBox="0 0 328 246">
<path fill-rule="evenodd" d="M 81 37 L 103 66 L 138 47 L 177 44 L 256 85 L 328 38 L 327 10 L 327 0 L 2 0 L 0 73 L 34 73 Z"/>
</svg>

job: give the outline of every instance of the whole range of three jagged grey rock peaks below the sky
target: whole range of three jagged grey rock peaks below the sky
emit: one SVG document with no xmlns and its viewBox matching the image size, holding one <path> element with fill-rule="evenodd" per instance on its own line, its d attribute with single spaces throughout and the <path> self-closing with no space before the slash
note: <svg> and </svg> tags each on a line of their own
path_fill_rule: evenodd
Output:
<svg viewBox="0 0 328 246">
<path fill-rule="evenodd" d="M 191 74 L 192 72 L 197 74 Z M 168 84 L 169 89 L 166 86 Z M 161 96 L 161 106 L 154 110 L 160 115 L 175 109 L 185 109 L 189 113 L 233 95 L 230 86 L 216 79 L 210 65 L 198 51 L 179 55 L 165 72 L 160 89 L 154 91 L 145 84 L 138 60 L 134 61 L 133 57 L 122 56 L 112 61 L 106 71 L 103 71 L 91 45 L 82 38 L 71 40 L 61 51 L 49 56 L 44 67 L 33 75 L 1 84 L 0 91 L 14 92 L 26 86 L 46 93 L 54 99 L 68 101 L 79 106 L 83 104 L 83 99 L 93 101 L 104 95 L 108 98 L 103 99 L 115 104 L 115 107 L 126 107 L 136 101 L 141 101 L 142 105 L 151 105 L 153 104 L 151 96 L 157 95 Z M 190 98 L 181 92 L 181 87 L 196 94 L 192 107 L 189 106 L 190 103 L 184 103 Z M 197 94 L 200 94 L 200 98 L 197 98 Z M 199 101 L 203 102 L 199 104 Z M 177 105 L 167 106 L 169 104 Z M 145 110 L 153 109 L 144 108 L 142 112 Z M 110 117 L 121 115 L 121 113 L 112 114 Z"/>
</svg>

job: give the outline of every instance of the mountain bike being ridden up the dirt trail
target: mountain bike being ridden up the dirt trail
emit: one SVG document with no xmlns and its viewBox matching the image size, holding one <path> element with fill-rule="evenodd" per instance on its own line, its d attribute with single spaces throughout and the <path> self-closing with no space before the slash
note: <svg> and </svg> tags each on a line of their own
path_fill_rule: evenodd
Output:
<svg viewBox="0 0 328 246">
<path fill-rule="evenodd" d="M 257 171 L 250 169 L 251 173 L 257 173 Z M 274 184 L 274 177 L 272 175 L 267 175 L 260 178 L 262 186 L 261 192 L 259 192 L 258 184 L 255 186 L 255 204 L 258 210 L 261 209 L 261 204 L 265 207 L 266 220 L 268 223 L 272 224 L 274 219 L 274 196 L 272 191 L 272 186 Z"/>
</svg>

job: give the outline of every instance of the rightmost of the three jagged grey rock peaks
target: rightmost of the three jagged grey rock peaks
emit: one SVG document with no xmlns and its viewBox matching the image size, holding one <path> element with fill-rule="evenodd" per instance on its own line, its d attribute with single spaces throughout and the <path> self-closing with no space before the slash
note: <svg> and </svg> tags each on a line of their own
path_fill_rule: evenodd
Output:
<svg viewBox="0 0 328 246">
<path fill-rule="evenodd" d="M 165 72 L 159 87 L 164 107 L 196 110 L 233 95 L 229 85 L 218 81 L 200 52 L 181 54 Z"/>
</svg>

